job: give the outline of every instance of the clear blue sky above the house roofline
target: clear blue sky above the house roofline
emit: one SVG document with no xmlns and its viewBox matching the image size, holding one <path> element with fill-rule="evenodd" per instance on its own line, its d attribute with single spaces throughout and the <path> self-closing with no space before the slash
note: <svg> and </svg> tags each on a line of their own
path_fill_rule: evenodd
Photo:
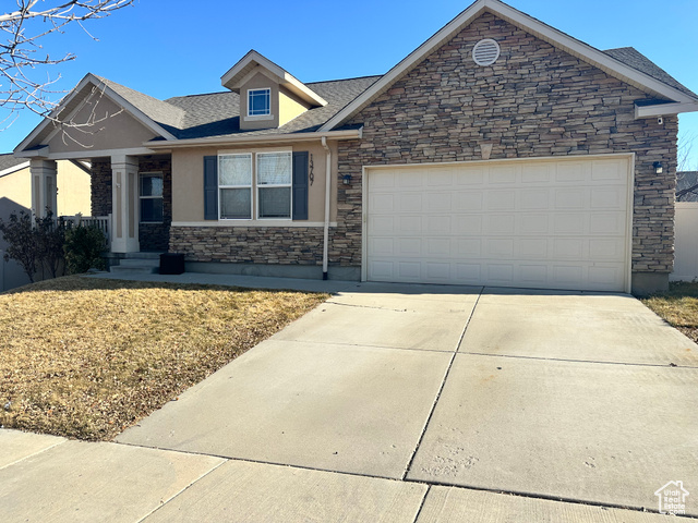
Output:
<svg viewBox="0 0 698 523">
<path fill-rule="evenodd" d="M 7 3 L 7 2 L 5 2 Z M 221 90 L 220 76 L 251 48 L 302 82 L 382 74 L 466 9 L 469 0 L 270 0 L 264 10 L 231 0 L 136 0 L 134 7 L 44 41 L 44 51 L 77 56 L 49 70 L 70 90 L 88 72 L 156 98 Z M 508 3 L 599 49 L 635 47 L 698 92 L 696 0 L 509 0 Z M 60 98 L 57 95 L 56 98 Z M 0 132 L 12 150 L 37 125 L 24 112 Z M 695 136 L 698 113 L 681 117 Z"/>
</svg>

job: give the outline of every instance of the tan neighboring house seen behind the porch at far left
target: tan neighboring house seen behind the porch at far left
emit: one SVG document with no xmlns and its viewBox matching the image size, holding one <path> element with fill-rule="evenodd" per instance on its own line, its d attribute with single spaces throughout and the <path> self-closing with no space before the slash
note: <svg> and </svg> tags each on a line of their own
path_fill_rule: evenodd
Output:
<svg viewBox="0 0 698 523">
<path fill-rule="evenodd" d="M 58 161 L 58 191 L 56 208 L 60 215 L 89 216 L 91 171 L 88 166 L 71 161 Z M 8 221 L 12 212 L 29 212 L 32 208 L 32 178 L 29 160 L 0 155 L 0 218 Z M 0 234 L 0 252 L 4 253 L 7 243 Z M 39 275 L 40 276 L 40 275 Z M 0 258 L 0 291 L 28 283 L 29 279 L 14 260 Z"/>
</svg>

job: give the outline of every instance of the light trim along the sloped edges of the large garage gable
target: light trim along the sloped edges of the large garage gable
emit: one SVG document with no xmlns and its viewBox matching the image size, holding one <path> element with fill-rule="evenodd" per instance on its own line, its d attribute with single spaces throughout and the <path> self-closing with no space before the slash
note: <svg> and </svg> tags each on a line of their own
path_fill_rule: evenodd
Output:
<svg viewBox="0 0 698 523">
<path fill-rule="evenodd" d="M 402 78 L 419 63 L 426 59 L 433 51 L 450 40 L 456 34 L 471 24 L 476 19 L 483 13 L 489 12 L 498 16 L 513 25 L 526 31 L 527 33 L 547 41 L 554 47 L 562 49 L 569 54 L 583 60 L 591 65 L 599 68 L 606 74 L 614 76 L 629 85 L 633 85 L 640 90 L 643 90 L 653 96 L 665 97 L 675 102 L 681 104 L 681 111 L 698 111 L 698 96 L 693 94 L 688 89 L 681 89 L 675 85 L 665 83 L 666 78 L 659 80 L 655 77 L 657 71 L 663 71 L 657 66 L 657 71 L 652 71 L 654 74 L 643 72 L 635 69 L 635 66 L 628 65 L 624 61 L 614 58 L 613 53 L 605 53 L 600 51 L 576 38 L 566 35 L 565 33 L 555 29 L 528 14 L 525 14 L 500 0 L 477 0 L 462 13 L 456 16 L 453 21 L 446 24 L 434 36 L 428 39 L 419 48 L 407 56 L 402 61 L 388 71 L 381 80 L 374 85 L 368 88 L 364 93 L 358 96 L 341 111 L 335 114 L 328 120 L 320 131 L 330 131 L 338 125 L 341 125 L 353 114 L 358 113 L 361 109 L 366 107 L 380 95 L 390 88 L 397 81 Z M 637 53 L 639 54 L 639 53 Z M 641 57 L 641 54 L 640 54 Z M 645 58 L 645 57 L 642 57 Z M 650 62 L 651 63 L 651 62 Z M 653 65 L 653 64 L 652 64 Z M 671 78 L 666 73 L 667 77 Z M 673 80 L 673 78 L 671 78 Z M 678 84 L 676 81 L 674 81 Z M 678 84 L 681 85 L 681 84 Z M 682 86 L 683 87 L 683 86 Z M 678 106 L 676 106 L 678 107 Z"/>
</svg>

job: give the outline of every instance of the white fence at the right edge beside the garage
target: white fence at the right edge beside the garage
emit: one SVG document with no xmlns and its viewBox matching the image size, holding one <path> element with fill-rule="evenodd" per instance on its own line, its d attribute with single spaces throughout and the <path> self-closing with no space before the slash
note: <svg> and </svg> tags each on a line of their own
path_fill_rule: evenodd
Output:
<svg viewBox="0 0 698 523">
<path fill-rule="evenodd" d="M 676 240 L 672 281 L 698 279 L 698 202 L 676 203 Z"/>
</svg>

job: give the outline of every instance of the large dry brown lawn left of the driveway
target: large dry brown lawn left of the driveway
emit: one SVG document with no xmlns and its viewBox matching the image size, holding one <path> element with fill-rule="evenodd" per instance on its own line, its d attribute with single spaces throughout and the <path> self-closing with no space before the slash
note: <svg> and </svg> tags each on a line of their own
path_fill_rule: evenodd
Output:
<svg viewBox="0 0 698 523">
<path fill-rule="evenodd" d="M 0 294 L 0 425 L 112 439 L 326 299 L 76 276 Z"/>
</svg>

